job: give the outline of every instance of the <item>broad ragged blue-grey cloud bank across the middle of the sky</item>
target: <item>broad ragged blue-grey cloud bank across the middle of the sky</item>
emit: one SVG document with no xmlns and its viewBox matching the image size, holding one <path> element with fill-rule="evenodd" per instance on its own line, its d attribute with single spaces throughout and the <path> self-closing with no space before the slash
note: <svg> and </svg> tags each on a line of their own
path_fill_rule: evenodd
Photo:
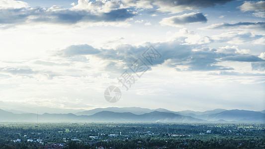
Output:
<svg viewBox="0 0 265 149">
<path fill-rule="evenodd" d="M 151 46 L 151 43 L 146 43 Z M 250 54 L 241 54 L 237 52 L 230 52 L 231 48 L 227 49 L 201 49 L 197 47 L 192 50 L 191 45 L 181 45 L 180 43 L 153 43 L 155 48 L 161 54 L 161 58 L 154 60 L 153 65 L 144 59 L 142 54 L 149 48 L 149 46 L 132 46 L 132 45 L 120 45 L 115 49 L 94 49 L 89 45 L 73 45 L 67 49 L 71 49 L 67 54 L 66 51 L 62 52 L 60 56 L 68 56 L 69 60 L 83 61 L 78 57 L 82 55 L 93 55 L 100 58 L 105 63 L 104 71 L 124 71 L 124 68 L 130 67 L 138 58 L 141 58 L 146 65 L 168 65 L 169 67 L 176 68 L 183 66 L 186 71 L 216 71 L 216 70 L 233 70 L 233 68 L 220 66 L 219 62 L 222 61 L 237 61 L 237 62 L 263 62 L 265 60 L 260 59 L 257 56 Z M 81 49 L 81 50 L 80 50 Z M 89 52 L 90 50 L 94 52 Z M 228 52 L 227 52 L 228 50 Z M 235 49 L 233 49 L 235 50 Z M 87 59 L 86 59 L 87 60 Z"/>
</svg>

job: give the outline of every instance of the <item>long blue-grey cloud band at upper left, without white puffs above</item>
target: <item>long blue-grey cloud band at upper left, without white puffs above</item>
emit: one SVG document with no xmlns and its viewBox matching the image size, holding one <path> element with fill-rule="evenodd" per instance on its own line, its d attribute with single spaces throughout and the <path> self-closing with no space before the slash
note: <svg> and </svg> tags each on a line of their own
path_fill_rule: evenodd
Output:
<svg viewBox="0 0 265 149">
<path fill-rule="evenodd" d="M 75 24 L 78 22 L 115 22 L 124 21 L 135 14 L 127 9 L 114 9 L 110 12 L 92 14 L 85 10 L 58 9 L 43 7 L 0 9 L 0 24 L 21 24 L 26 22 L 46 22 Z"/>
</svg>

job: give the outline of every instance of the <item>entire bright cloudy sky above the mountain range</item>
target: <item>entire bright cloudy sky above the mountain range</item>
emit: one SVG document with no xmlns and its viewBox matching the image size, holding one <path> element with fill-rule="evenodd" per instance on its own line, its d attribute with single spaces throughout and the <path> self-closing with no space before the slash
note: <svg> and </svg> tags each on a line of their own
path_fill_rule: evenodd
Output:
<svg viewBox="0 0 265 149">
<path fill-rule="evenodd" d="M 265 110 L 265 1 L 0 0 L 0 108 L 40 106 Z"/>
</svg>

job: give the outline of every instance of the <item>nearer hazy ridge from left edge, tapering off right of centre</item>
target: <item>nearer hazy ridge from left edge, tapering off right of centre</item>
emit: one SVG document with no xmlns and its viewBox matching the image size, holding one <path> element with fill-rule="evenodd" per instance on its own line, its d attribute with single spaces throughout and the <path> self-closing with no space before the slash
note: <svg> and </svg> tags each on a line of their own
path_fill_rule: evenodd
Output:
<svg viewBox="0 0 265 149">
<path fill-rule="evenodd" d="M 13 114 L 0 110 L 1 122 L 37 122 L 37 114 Z M 38 122 L 203 122 L 189 116 L 177 115 L 168 112 L 154 111 L 141 115 L 130 112 L 101 111 L 90 116 L 77 116 L 68 114 L 48 114 L 38 115 Z"/>
</svg>

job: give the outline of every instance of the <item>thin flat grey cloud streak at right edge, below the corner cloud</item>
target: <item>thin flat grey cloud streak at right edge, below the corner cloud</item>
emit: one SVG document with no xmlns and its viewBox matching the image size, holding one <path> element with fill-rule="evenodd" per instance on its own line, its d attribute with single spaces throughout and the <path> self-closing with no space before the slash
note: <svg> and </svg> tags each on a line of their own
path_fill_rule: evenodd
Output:
<svg viewBox="0 0 265 149">
<path fill-rule="evenodd" d="M 227 29 L 227 28 L 235 28 L 240 30 L 264 30 L 265 29 L 265 22 L 238 22 L 235 24 L 229 23 L 219 23 L 219 24 L 212 24 L 207 27 L 200 28 L 202 30 L 211 30 L 211 29 Z"/>
</svg>

